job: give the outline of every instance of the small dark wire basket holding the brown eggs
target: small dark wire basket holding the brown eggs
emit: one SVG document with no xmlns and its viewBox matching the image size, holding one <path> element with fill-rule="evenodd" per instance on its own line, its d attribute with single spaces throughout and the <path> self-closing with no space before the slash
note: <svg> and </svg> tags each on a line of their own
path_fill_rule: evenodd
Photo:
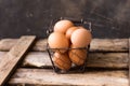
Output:
<svg viewBox="0 0 130 86">
<path fill-rule="evenodd" d="M 68 18 L 68 17 L 61 17 L 61 19 L 68 19 L 68 20 L 72 20 L 74 23 L 75 26 L 82 26 L 84 28 L 88 28 L 88 30 L 92 31 L 91 30 L 91 23 L 88 23 L 83 19 L 76 19 L 76 18 Z M 49 30 L 47 30 L 47 35 L 49 35 L 51 32 L 53 32 L 53 26 L 54 24 L 60 20 L 60 19 L 56 19 L 56 20 L 51 20 L 51 24 L 50 24 L 50 28 Z M 56 51 L 61 51 L 61 49 L 66 49 L 66 51 L 70 51 L 70 49 L 84 49 L 87 51 L 87 55 L 86 55 L 86 60 L 83 62 L 83 64 L 81 66 L 77 66 L 75 63 L 72 63 L 72 67 L 69 70 L 62 70 L 62 69 L 58 69 L 55 64 L 54 64 L 54 61 L 53 61 L 53 55 L 54 55 L 54 49 Z M 50 57 L 50 60 L 51 60 L 51 63 L 52 63 L 52 68 L 54 70 L 54 72 L 56 73 L 83 73 L 86 71 L 86 66 L 87 66 L 87 57 L 89 56 L 89 49 L 90 49 L 90 44 L 86 47 L 77 47 L 77 48 L 50 48 L 49 47 L 49 44 L 47 43 L 47 51 L 48 51 L 48 54 L 49 54 L 49 57 Z"/>
</svg>

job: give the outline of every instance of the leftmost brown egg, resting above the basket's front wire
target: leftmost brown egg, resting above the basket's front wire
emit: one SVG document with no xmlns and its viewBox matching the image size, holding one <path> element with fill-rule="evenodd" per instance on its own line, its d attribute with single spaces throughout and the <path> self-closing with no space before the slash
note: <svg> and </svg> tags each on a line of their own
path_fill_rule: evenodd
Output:
<svg viewBox="0 0 130 86">
<path fill-rule="evenodd" d="M 65 53 L 69 47 L 69 41 L 65 34 L 61 32 L 52 32 L 48 38 L 50 48 L 65 48 L 65 49 L 53 49 L 54 52 Z"/>
</svg>

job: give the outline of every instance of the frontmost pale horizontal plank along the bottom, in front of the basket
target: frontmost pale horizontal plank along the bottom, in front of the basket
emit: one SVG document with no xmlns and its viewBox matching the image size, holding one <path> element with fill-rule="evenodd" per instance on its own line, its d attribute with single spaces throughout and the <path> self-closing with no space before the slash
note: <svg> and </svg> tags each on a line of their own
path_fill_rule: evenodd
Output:
<svg viewBox="0 0 130 86">
<path fill-rule="evenodd" d="M 128 86 L 128 71 L 87 71 L 86 73 L 56 74 L 46 69 L 18 69 L 9 85 L 64 86 Z"/>
</svg>

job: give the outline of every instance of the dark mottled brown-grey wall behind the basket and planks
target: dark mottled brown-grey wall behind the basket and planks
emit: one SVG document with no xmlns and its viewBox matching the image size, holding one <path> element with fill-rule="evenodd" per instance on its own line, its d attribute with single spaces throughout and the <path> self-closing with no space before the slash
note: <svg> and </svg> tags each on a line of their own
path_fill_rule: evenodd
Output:
<svg viewBox="0 0 130 86">
<path fill-rule="evenodd" d="M 93 38 L 130 37 L 130 0 L 0 0 L 0 39 L 46 38 L 61 16 L 91 22 Z"/>
</svg>

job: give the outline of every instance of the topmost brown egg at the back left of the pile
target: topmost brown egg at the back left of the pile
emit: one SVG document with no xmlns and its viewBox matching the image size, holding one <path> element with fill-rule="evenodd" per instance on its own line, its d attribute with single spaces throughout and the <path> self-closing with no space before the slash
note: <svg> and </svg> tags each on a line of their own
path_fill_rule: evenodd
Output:
<svg viewBox="0 0 130 86">
<path fill-rule="evenodd" d="M 67 31 L 67 29 L 73 27 L 73 26 L 74 26 L 74 24 L 70 20 L 67 20 L 67 19 L 58 20 L 54 25 L 54 31 L 65 33 Z"/>
</svg>

